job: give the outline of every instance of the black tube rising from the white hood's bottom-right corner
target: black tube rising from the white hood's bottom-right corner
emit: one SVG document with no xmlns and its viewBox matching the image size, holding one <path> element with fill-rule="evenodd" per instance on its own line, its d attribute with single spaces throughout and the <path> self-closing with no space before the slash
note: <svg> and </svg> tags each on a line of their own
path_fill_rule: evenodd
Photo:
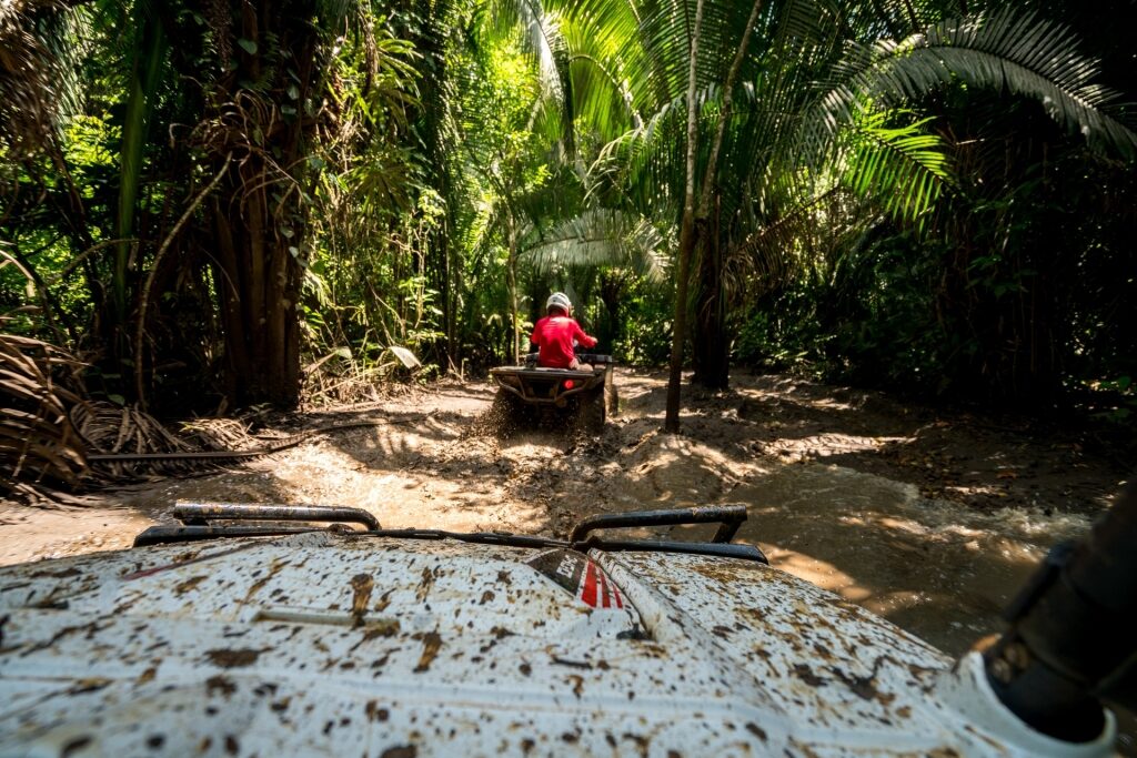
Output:
<svg viewBox="0 0 1137 758">
<path fill-rule="evenodd" d="M 1137 481 L 1076 543 L 1054 548 L 987 649 L 998 698 L 1035 730 L 1097 738 L 1101 699 L 1137 703 Z"/>
</svg>

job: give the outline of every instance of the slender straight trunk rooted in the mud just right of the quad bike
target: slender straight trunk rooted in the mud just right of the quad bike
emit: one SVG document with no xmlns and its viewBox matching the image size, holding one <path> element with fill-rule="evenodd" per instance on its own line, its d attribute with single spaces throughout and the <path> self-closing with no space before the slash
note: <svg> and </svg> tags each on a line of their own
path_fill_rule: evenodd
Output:
<svg viewBox="0 0 1137 758">
<path fill-rule="evenodd" d="M 695 102 L 699 31 L 703 26 L 703 0 L 695 6 L 691 31 L 691 65 L 687 73 L 687 186 L 683 219 L 679 226 L 679 272 L 675 282 L 675 318 L 671 333 L 671 364 L 667 370 L 667 411 L 663 430 L 679 433 L 680 382 L 683 373 L 683 347 L 687 341 L 687 285 L 691 277 L 691 251 L 695 249 L 695 149 L 699 132 L 698 103 Z"/>
</svg>

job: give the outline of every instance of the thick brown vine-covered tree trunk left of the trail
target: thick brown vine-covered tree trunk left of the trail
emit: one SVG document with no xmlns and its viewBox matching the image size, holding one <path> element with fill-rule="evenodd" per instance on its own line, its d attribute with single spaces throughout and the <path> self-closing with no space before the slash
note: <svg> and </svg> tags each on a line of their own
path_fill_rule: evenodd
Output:
<svg viewBox="0 0 1137 758">
<path fill-rule="evenodd" d="M 223 128 L 225 140 L 215 138 L 209 144 L 218 165 L 221 155 L 235 153 L 225 190 L 211 207 L 225 388 L 236 406 L 271 402 L 290 408 L 300 399 L 304 158 L 318 127 L 317 118 L 306 115 L 305 103 L 322 81 L 318 30 L 309 20 L 297 22 L 276 3 L 259 0 L 241 5 L 233 33 L 241 41 L 234 45 L 238 65 L 214 98 L 215 130 Z M 287 66 L 276 63 L 281 55 Z M 242 81 L 265 77 L 269 90 L 243 90 Z M 291 102 L 296 110 L 287 114 L 281 103 Z"/>
</svg>

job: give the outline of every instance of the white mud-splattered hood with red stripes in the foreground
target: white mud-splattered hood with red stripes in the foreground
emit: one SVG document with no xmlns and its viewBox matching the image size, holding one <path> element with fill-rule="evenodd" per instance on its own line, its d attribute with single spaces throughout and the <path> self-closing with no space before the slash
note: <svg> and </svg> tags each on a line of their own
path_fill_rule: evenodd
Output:
<svg viewBox="0 0 1137 758">
<path fill-rule="evenodd" d="M 0 570 L 0 755 L 1002 755 L 779 570 L 312 533 Z"/>
</svg>

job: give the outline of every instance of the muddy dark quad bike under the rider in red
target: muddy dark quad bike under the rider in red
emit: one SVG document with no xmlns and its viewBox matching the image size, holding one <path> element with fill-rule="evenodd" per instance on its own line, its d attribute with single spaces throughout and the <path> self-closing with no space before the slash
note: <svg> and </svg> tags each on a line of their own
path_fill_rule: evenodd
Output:
<svg viewBox="0 0 1137 758">
<path fill-rule="evenodd" d="M 545 368 L 537 365 L 532 352 L 521 366 L 490 369 L 498 385 L 493 413 L 514 423 L 526 415 L 541 420 L 570 416 L 589 434 L 599 434 L 619 403 L 612 356 L 579 352 L 576 360 L 579 369 Z"/>
</svg>

